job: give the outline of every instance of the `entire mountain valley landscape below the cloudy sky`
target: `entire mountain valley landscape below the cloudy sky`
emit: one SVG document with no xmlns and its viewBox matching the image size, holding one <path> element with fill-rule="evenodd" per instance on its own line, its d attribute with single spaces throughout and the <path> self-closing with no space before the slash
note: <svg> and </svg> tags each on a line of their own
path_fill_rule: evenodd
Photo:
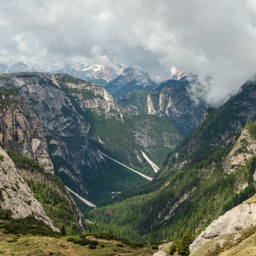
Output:
<svg viewBox="0 0 256 256">
<path fill-rule="evenodd" d="M 0 253 L 256 254 L 255 79 L 212 108 L 175 67 L 0 68 Z"/>
</svg>

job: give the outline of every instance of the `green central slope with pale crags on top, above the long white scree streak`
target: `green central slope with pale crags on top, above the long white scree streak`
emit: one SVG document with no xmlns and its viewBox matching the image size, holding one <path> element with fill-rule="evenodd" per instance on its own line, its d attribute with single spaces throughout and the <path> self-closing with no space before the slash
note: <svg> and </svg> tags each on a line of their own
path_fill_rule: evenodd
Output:
<svg viewBox="0 0 256 256">
<path fill-rule="evenodd" d="M 72 84 L 67 75 L 55 77 L 73 106 L 87 113 L 84 118 L 90 121 L 88 135 L 94 145 L 124 164 L 152 169 L 146 164 L 141 150 L 160 164 L 183 137 L 168 119 L 131 115 L 102 87 L 82 80 Z"/>
</svg>

